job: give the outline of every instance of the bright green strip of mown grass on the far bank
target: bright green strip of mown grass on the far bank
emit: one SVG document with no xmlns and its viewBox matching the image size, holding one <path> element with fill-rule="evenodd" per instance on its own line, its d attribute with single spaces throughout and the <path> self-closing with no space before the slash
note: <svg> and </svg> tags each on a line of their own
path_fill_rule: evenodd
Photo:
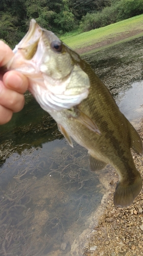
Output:
<svg viewBox="0 0 143 256">
<path fill-rule="evenodd" d="M 76 31 L 73 34 L 70 33 L 69 36 L 62 36 L 61 40 L 72 49 L 77 50 L 79 48 L 95 45 L 97 42 L 115 38 L 119 36 L 120 33 L 129 33 L 133 30 L 137 32 L 137 30 L 142 29 L 142 25 L 143 14 L 88 32 L 77 34 L 78 31 Z M 143 29 L 141 34 L 143 35 Z"/>
</svg>

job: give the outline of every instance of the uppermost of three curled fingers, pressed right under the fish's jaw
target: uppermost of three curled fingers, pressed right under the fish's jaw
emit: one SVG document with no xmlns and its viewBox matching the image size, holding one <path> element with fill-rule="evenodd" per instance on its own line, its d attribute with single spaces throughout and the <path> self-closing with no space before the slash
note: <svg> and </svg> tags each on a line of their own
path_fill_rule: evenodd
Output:
<svg viewBox="0 0 143 256">
<path fill-rule="evenodd" d="M 18 71 L 8 71 L 3 77 L 5 86 L 18 93 L 24 93 L 28 88 L 28 79 Z"/>
</svg>

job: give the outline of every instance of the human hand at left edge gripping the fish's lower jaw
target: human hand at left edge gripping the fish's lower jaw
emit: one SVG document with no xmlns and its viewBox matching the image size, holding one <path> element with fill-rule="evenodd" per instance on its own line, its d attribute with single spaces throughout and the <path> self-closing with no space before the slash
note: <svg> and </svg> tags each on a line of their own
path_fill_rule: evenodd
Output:
<svg viewBox="0 0 143 256">
<path fill-rule="evenodd" d="M 12 58 L 14 53 L 0 40 L 0 67 Z M 10 121 L 14 112 L 24 105 L 23 93 L 27 90 L 28 79 L 17 71 L 8 71 L 4 75 L 0 70 L 0 124 Z"/>
</svg>

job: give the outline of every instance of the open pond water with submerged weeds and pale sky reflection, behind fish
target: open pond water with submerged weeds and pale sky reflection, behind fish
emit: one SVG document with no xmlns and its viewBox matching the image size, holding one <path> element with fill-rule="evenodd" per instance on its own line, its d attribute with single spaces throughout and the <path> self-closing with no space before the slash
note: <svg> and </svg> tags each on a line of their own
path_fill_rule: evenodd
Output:
<svg viewBox="0 0 143 256">
<path fill-rule="evenodd" d="M 103 61 L 106 79 L 107 68 L 117 63 L 108 60 L 105 67 Z M 138 81 L 118 92 L 117 103 L 134 124 L 142 116 L 142 90 Z M 89 171 L 87 150 L 75 142 L 70 147 L 31 96 L 0 127 L 0 140 L 0 255 L 82 256 L 106 193 L 98 175 Z"/>
</svg>

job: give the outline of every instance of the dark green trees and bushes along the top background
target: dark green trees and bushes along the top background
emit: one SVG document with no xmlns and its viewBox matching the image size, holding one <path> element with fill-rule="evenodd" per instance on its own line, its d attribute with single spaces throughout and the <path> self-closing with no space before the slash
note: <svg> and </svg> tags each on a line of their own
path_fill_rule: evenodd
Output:
<svg viewBox="0 0 143 256">
<path fill-rule="evenodd" d="M 13 48 L 27 32 L 31 18 L 61 35 L 89 31 L 141 13 L 142 0 L 1 0 L 0 38 Z"/>
</svg>

